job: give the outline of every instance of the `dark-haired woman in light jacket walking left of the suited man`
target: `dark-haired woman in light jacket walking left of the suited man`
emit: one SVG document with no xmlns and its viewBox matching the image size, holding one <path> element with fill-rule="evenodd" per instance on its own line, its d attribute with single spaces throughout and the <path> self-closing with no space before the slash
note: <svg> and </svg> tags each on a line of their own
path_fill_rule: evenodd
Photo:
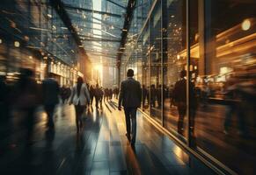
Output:
<svg viewBox="0 0 256 175">
<path fill-rule="evenodd" d="M 77 78 L 77 84 L 71 90 L 69 103 L 73 103 L 75 105 L 78 133 L 83 128 L 82 116 L 84 113 L 84 109 L 86 109 L 87 104 L 90 103 L 89 91 L 82 77 Z"/>
</svg>

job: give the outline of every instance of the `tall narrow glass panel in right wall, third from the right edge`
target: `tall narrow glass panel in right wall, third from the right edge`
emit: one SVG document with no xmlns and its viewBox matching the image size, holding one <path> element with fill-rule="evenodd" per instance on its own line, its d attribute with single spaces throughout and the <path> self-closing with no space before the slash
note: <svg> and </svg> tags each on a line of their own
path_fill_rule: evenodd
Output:
<svg viewBox="0 0 256 175">
<path fill-rule="evenodd" d="M 162 55 L 161 55 L 161 2 L 158 1 L 150 17 L 150 116 L 162 123 Z"/>
</svg>

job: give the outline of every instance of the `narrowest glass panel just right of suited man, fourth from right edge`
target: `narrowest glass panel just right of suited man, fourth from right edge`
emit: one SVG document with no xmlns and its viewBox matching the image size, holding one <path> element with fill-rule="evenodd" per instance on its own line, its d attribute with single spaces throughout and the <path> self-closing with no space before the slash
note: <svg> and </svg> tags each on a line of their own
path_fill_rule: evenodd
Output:
<svg viewBox="0 0 256 175">
<path fill-rule="evenodd" d="M 143 111 L 150 114 L 150 29 L 146 25 L 142 34 L 143 45 Z"/>
</svg>

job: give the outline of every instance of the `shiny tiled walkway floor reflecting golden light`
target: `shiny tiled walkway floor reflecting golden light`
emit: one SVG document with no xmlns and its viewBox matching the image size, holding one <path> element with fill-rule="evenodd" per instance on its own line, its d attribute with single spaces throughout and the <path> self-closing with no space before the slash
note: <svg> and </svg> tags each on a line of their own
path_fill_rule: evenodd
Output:
<svg viewBox="0 0 256 175">
<path fill-rule="evenodd" d="M 73 106 L 58 107 L 55 131 L 45 128 L 38 110 L 34 143 L 26 147 L 20 114 L 0 130 L 0 174 L 214 174 L 137 115 L 135 151 L 125 137 L 123 111 L 106 102 L 89 109 L 84 131 L 77 135 Z"/>
</svg>

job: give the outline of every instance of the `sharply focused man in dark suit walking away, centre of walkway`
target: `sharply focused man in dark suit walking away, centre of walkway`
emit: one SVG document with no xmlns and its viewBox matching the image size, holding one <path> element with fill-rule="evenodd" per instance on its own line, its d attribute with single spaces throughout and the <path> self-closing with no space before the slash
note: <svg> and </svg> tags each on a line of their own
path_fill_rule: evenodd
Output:
<svg viewBox="0 0 256 175">
<path fill-rule="evenodd" d="M 136 139 L 136 112 L 137 108 L 141 106 L 142 89 L 140 82 L 135 81 L 135 79 L 133 78 L 134 71 L 132 69 L 128 69 L 127 76 L 128 79 L 121 82 L 118 109 L 121 110 L 122 104 L 126 118 L 126 136 L 131 142 L 132 147 L 134 147 Z M 130 120 L 132 121 L 132 132 Z"/>
</svg>

